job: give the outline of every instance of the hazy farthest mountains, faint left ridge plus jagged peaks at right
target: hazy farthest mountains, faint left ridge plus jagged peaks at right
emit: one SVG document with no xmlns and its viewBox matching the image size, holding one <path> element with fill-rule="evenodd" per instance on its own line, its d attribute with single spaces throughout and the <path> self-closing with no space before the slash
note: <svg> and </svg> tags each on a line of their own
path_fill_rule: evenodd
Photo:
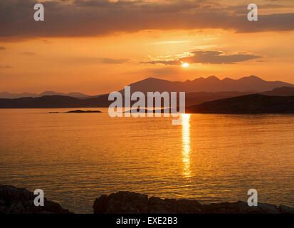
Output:
<svg viewBox="0 0 294 228">
<path fill-rule="evenodd" d="M 285 83 L 282 81 L 264 81 L 257 76 L 248 76 L 240 79 L 224 78 L 219 79 L 215 76 L 208 78 L 196 78 L 193 81 L 167 81 L 159 78 L 146 78 L 142 81 L 131 83 L 131 91 L 141 91 L 143 93 L 159 91 L 160 93 L 167 92 L 246 92 L 255 93 L 273 90 L 278 87 L 294 87 L 294 84 Z M 123 93 L 123 89 L 120 92 Z M 43 93 L 0 93 L 0 98 L 38 98 L 43 95 L 65 95 L 73 98 L 97 98 L 100 95 L 86 95 L 84 93 L 57 93 L 54 91 L 46 91 Z"/>
</svg>

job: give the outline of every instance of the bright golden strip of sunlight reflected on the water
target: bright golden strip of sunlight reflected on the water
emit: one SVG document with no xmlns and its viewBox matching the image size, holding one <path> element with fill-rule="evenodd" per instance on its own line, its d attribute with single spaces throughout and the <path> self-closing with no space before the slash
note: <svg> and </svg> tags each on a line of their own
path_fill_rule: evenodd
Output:
<svg viewBox="0 0 294 228">
<path fill-rule="evenodd" d="M 182 114 L 182 156 L 185 177 L 191 177 L 190 170 L 190 116 L 191 114 Z"/>
</svg>

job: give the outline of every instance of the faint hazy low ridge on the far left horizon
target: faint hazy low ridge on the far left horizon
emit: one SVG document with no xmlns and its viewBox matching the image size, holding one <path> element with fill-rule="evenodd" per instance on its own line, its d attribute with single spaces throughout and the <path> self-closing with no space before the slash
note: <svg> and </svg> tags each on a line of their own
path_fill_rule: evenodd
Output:
<svg viewBox="0 0 294 228">
<path fill-rule="evenodd" d="M 14 99 L 14 98 L 37 98 L 42 97 L 44 95 L 67 95 L 73 98 L 87 98 L 89 95 L 85 95 L 83 93 L 57 93 L 54 91 L 45 91 L 43 93 L 9 93 L 9 92 L 1 92 L 0 98 L 4 99 Z"/>
</svg>

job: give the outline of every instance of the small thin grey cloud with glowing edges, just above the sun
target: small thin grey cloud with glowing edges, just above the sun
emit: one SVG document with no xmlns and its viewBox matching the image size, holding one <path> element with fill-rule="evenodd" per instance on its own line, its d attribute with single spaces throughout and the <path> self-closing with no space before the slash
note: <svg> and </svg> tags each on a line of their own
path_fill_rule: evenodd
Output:
<svg viewBox="0 0 294 228">
<path fill-rule="evenodd" d="M 180 65 L 185 63 L 204 63 L 204 64 L 233 64 L 243 61 L 248 61 L 254 58 L 261 58 L 253 53 L 224 53 L 223 51 L 191 51 L 188 57 L 175 58 L 173 60 L 155 60 L 142 63 L 164 65 Z"/>
</svg>

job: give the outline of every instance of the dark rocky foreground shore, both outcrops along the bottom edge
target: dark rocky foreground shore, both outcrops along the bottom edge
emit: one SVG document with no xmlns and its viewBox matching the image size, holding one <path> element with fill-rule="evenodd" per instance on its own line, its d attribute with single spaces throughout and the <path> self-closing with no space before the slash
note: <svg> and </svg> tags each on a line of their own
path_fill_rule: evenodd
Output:
<svg viewBox="0 0 294 228">
<path fill-rule="evenodd" d="M 0 214 L 73 214 L 60 204 L 44 199 L 36 207 L 36 195 L 24 188 L 0 185 Z M 161 199 L 135 192 L 117 192 L 95 199 L 94 214 L 294 214 L 293 207 L 258 203 L 248 207 L 246 202 L 200 204 L 197 200 Z"/>
</svg>

